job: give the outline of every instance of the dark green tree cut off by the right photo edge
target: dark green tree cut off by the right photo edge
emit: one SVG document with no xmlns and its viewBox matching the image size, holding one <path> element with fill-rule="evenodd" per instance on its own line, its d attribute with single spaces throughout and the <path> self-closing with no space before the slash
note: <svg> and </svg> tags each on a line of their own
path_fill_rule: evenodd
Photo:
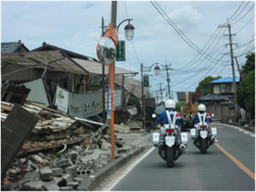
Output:
<svg viewBox="0 0 256 192">
<path fill-rule="evenodd" d="M 246 56 L 247 60 L 241 68 L 245 78 L 240 82 L 238 91 L 238 104 L 241 108 L 251 113 L 251 119 L 255 115 L 255 53 Z"/>
</svg>

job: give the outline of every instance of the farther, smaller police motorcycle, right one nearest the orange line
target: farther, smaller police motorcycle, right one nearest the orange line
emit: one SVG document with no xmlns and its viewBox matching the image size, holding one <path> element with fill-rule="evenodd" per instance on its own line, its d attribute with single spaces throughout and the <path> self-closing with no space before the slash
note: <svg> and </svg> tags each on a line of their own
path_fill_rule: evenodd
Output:
<svg viewBox="0 0 256 192">
<path fill-rule="evenodd" d="M 194 139 L 194 144 L 200 150 L 201 154 L 207 154 L 208 147 L 217 141 L 217 128 L 211 128 L 208 123 L 210 114 L 197 113 L 199 123 L 195 124 L 195 128 L 190 129 L 190 137 Z M 212 114 L 214 116 L 214 114 Z M 207 122 L 205 121 L 207 118 Z M 203 119 L 203 120 L 202 120 Z"/>
</svg>

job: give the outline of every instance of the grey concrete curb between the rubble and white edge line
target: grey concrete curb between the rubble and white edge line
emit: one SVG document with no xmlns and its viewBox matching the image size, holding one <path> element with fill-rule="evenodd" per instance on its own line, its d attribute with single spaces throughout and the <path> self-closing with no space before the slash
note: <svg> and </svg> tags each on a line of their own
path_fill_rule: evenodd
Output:
<svg viewBox="0 0 256 192">
<path fill-rule="evenodd" d="M 77 188 L 77 191 L 92 191 L 107 177 L 111 176 L 118 168 L 130 161 L 134 156 L 141 154 L 144 149 L 144 146 L 137 148 L 126 154 L 126 156 L 121 156 L 110 164 L 104 166 L 94 174 L 95 177 L 84 178 L 84 180 L 80 182 L 80 186 Z"/>
</svg>

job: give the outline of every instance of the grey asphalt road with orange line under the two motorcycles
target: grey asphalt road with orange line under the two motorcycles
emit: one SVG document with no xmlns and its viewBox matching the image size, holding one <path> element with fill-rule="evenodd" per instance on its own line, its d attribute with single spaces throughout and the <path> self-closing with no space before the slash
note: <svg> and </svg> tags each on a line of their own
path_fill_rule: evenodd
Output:
<svg viewBox="0 0 256 192">
<path fill-rule="evenodd" d="M 206 155 L 190 140 L 187 154 L 167 168 L 155 148 L 112 191 L 254 191 L 255 135 L 220 123 L 211 126 L 218 128 L 219 143 Z"/>
</svg>

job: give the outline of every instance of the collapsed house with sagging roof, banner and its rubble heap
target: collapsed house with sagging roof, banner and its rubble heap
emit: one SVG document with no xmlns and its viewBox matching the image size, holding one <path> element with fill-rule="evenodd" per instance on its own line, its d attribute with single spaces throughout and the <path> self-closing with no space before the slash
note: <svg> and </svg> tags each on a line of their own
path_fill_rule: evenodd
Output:
<svg viewBox="0 0 256 192">
<path fill-rule="evenodd" d="M 76 189 L 111 161 L 111 134 L 101 118 L 101 64 L 46 43 L 33 51 L 20 41 L 1 46 L 0 189 Z M 123 80 L 124 74 L 136 74 L 115 71 Z M 116 84 L 114 107 L 126 119 L 115 117 L 114 128 L 130 133 L 138 105 L 124 98 L 131 90 L 123 84 Z M 117 158 L 132 148 L 115 136 Z"/>
</svg>

